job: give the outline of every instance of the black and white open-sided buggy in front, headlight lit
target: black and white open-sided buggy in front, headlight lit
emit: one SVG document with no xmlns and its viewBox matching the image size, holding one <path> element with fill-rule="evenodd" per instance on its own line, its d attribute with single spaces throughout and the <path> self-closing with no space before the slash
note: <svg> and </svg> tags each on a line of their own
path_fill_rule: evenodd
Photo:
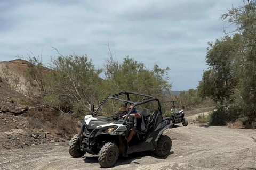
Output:
<svg viewBox="0 0 256 170">
<path fill-rule="evenodd" d="M 117 113 L 121 106 L 132 106 L 124 119 Z M 138 131 L 127 143 L 129 131 L 134 128 L 134 116 L 130 115 L 134 109 L 143 115 L 146 130 Z M 91 105 L 91 115 L 86 115 L 80 125 L 81 132 L 69 143 L 69 154 L 98 154 L 99 164 L 104 168 L 114 166 L 119 155 L 127 157 L 134 152 L 154 150 L 157 156 L 164 157 L 172 147 L 171 139 L 162 134 L 171 128 L 171 118 L 163 118 L 159 100 L 149 95 L 124 91 L 108 96 L 95 112 Z"/>
</svg>

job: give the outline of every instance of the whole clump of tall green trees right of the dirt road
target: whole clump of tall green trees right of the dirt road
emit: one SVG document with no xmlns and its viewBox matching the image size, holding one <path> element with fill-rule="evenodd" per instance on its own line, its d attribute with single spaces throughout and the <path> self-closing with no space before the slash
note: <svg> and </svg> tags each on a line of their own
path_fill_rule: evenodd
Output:
<svg viewBox="0 0 256 170">
<path fill-rule="evenodd" d="M 235 30 L 209 43 L 204 71 L 197 87 L 199 96 L 218 103 L 211 124 L 241 121 L 256 128 L 256 3 L 228 9 L 220 19 Z"/>
</svg>

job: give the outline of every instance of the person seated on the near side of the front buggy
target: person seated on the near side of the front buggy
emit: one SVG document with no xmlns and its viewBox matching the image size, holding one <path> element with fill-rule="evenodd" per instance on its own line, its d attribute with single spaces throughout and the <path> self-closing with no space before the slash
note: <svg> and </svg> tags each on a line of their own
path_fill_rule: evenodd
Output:
<svg viewBox="0 0 256 170">
<path fill-rule="evenodd" d="M 131 110 L 133 106 L 129 107 L 129 111 Z M 127 137 L 127 142 L 130 142 L 132 137 L 137 133 L 143 133 L 145 131 L 145 123 L 143 119 L 143 115 L 141 113 L 137 113 L 136 108 L 134 108 L 130 115 L 133 115 L 135 117 L 135 125 L 134 128 L 130 129 L 129 135 Z M 123 118 L 126 117 L 126 115 L 123 116 Z"/>
</svg>

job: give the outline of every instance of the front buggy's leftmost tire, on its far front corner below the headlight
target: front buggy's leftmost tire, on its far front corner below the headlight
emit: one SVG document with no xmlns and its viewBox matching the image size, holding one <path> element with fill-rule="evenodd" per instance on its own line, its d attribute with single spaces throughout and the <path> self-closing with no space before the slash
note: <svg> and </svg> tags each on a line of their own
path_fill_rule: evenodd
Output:
<svg viewBox="0 0 256 170">
<path fill-rule="evenodd" d="M 85 152 L 81 151 L 80 149 L 79 134 L 74 135 L 74 137 L 70 140 L 68 152 L 75 158 L 82 157 L 85 154 Z"/>
</svg>

